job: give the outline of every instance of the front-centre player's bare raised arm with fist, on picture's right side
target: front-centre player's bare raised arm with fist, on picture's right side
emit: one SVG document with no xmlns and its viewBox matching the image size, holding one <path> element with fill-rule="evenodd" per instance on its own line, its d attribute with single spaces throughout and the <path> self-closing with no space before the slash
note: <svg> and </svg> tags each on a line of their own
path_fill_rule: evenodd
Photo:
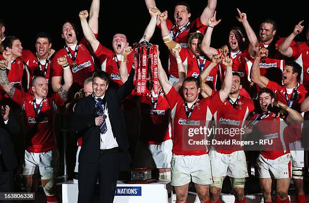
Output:
<svg viewBox="0 0 309 203">
<path fill-rule="evenodd" d="M 222 84 L 222 88 L 219 91 L 220 99 L 222 102 L 225 101 L 225 99 L 229 96 L 231 89 L 232 89 L 232 83 L 233 83 L 233 71 L 232 71 L 232 64 L 233 60 L 232 58 L 225 57 L 222 60 L 222 63 L 226 66 L 226 72 L 225 72 L 225 78 Z"/>
</svg>

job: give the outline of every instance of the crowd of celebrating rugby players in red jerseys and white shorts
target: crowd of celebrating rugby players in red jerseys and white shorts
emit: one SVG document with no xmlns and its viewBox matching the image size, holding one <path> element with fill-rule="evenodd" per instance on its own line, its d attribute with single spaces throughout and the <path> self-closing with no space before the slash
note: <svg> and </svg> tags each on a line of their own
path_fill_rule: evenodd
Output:
<svg viewBox="0 0 309 203">
<path fill-rule="evenodd" d="M 289 202 L 292 178 L 296 202 L 305 202 L 301 130 L 306 130 L 306 123 L 299 123 L 306 118 L 303 112 L 309 110 L 309 29 L 304 30 L 303 21 L 291 28 L 289 36 L 279 38 L 276 22 L 266 19 L 256 36 L 247 15 L 237 9 L 243 28 L 232 27 L 228 44 L 213 48 L 211 39 L 216 36 L 212 32 L 221 21 L 216 19 L 216 0 L 209 0 L 194 21 L 189 19 L 189 5 L 176 4 L 175 23 L 168 19 L 167 11 L 159 11 L 154 0 L 145 0 L 145 4 L 151 18 L 142 36 L 150 41 L 156 26 L 161 29 L 170 50 L 168 72 L 162 67 L 158 48 L 159 93 L 155 94 L 152 86 L 145 95 L 132 93 L 123 101 L 123 108 L 128 128 L 133 123 L 130 115 L 138 115 L 134 122 L 138 123 L 139 142 L 148 145 L 159 179 L 171 179 L 176 201 L 186 201 L 192 181 L 201 202 L 220 202 L 223 180 L 229 176 L 235 201 L 245 202 L 248 157 L 242 146 L 197 146 L 186 140 L 184 129 L 211 127 L 209 121 L 215 120 L 216 128 L 244 129 L 244 134 L 233 137 L 212 134 L 216 141 L 242 141 L 258 130 L 261 138 L 275 143 L 275 150 L 261 149 L 256 159 L 264 201 L 272 201 L 272 181 L 276 181 L 276 201 Z M 75 25 L 64 23 L 64 48 L 56 52 L 46 33 L 37 34 L 35 53 L 23 49 L 18 37 L 5 35 L 5 24 L 0 21 L 0 101 L 14 109 L 14 114 L 25 114 L 26 118 L 20 119 L 25 125 L 21 174 L 29 192 L 36 191 L 40 176 L 47 202 L 57 202 L 57 107 L 70 114 L 79 98 L 91 96 L 95 88 L 91 76 L 96 70 L 107 72 L 109 86 L 118 88 L 133 65 L 133 49 L 125 34 L 114 35 L 113 50 L 96 39 L 98 15 L 99 0 L 92 1 L 89 14 L 79 13 L 84 34 L 81 41 L 77 41 Z M 293 41 L 303 31 L 305 41 Z M 100 64 L 95 64 L 93 57 Z M 6 123 L 5 108 L 2 110 Z M 82 138 L 78 152 L 81 148 Z M 74 171 L 78 172 L 78 153 L 76 160 Z"/>
</svg>

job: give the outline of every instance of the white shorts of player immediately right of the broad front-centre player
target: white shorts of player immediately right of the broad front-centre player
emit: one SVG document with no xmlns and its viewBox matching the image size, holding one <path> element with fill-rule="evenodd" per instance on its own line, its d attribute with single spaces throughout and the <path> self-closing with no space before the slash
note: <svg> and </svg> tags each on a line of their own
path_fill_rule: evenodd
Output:
<svg viewBox="0 0 309 203">
<path fill-rule="evenodd" d="M 209 157 L 211 159 L 214 177 L 248 177 L 246 156 L 244 151 L 223 154 L 217 152 L 216 150 L 211 150 L 209 152 Z"/>
</svg>

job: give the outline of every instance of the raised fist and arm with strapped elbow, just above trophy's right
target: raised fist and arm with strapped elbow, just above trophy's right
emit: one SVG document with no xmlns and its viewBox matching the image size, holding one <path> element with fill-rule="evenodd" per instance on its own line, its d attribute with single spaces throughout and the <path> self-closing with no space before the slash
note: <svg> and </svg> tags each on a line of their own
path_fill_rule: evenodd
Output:
<svg viewBox="0 0 309 203">
<path fill-rule="evenodd" d="M 163 42 L 165 43 L 165 45 L 168 47 L 170 51 L 172 49 L 177 49 L 178 51 L 180 51 L 181 50 L 180 45 L 173 40 L 169 32 L 169 29 L 167 27 L 167 24 L 166 24 L 167 17 L 168 17 L 167 11 L 159 15 L 159 19 L 161 22 L 161 35 L 163 38 Z"/>
</svg>

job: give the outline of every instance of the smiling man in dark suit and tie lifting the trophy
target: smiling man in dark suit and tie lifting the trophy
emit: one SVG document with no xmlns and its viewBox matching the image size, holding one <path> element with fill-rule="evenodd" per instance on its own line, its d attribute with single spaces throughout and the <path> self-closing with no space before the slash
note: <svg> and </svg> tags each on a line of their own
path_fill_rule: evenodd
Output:
<svg viewBox="0 0 309 203">
<path fill-rule="evenodd" d="M 132 51 L 132 49 L 131 49 Z M 120 170 L 128 168 L 126 125 L 121 101 L 134 89 L 134 69 L 119 89 L 108 89 L 109 75 L 93 75 L 93 94 L 79 100 L 70 119 L 74 134 L 82 136 L 79 154 L 78 202 L 92 202 L 97 177 L 100 177 L 99 202 L 113 202 Z"/>
</svg>

